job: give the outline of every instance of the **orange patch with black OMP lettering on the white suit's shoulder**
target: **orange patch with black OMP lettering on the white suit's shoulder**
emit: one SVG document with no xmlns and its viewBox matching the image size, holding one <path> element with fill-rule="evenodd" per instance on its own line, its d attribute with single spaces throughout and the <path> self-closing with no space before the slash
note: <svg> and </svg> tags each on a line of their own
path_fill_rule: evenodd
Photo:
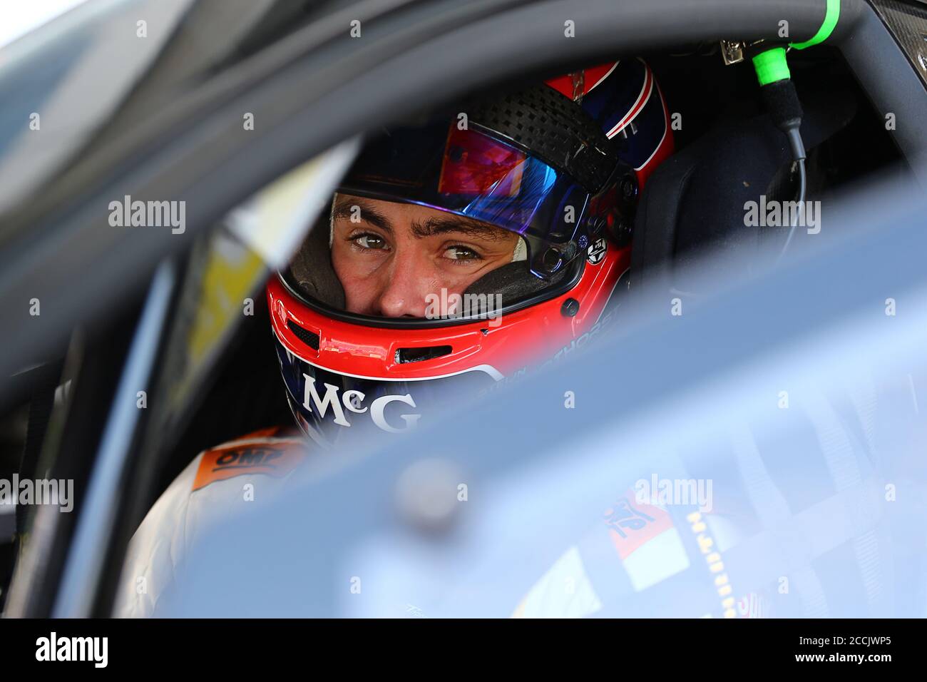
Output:
<svg viewBox="0 0 927 682">
<path fill-rule="evenodd" d="M 298 439 L 267 439 L 207 450 L 199 462 L 193 490 L 243 474 L 286 476 L 305 457 L 304 447 Z"/>
</svg>

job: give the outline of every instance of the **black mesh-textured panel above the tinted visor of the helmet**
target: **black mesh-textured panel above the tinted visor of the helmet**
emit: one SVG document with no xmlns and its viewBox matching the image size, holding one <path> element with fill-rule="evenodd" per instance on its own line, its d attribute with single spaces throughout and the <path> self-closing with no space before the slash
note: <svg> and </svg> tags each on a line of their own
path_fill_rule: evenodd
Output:
<svg viewBox="0 0 927 682">
<path fill-rule="evenodd" d="M 593 194 L 615 170 L 617 142 L 586 109 L 549 85 L 478 99 L 466 111 L 472 124 L 512 139 Z"/>
</svg>

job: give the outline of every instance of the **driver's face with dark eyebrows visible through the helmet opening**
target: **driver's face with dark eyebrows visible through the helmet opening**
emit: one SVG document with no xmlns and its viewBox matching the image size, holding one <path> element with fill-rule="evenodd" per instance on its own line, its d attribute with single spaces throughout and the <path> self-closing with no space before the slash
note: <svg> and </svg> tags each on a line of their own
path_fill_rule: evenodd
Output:
<svg viewBox="0 0 927 682">
<path fill-rule="evenodd" d="M 332 265 L 348 312 L 363 315 L 424 317 L 428 294 L 463 294 L 510 263 L 518 240 L 448 212 L 348 194 L 335 196 L 332 218 Z"/>
</svg>

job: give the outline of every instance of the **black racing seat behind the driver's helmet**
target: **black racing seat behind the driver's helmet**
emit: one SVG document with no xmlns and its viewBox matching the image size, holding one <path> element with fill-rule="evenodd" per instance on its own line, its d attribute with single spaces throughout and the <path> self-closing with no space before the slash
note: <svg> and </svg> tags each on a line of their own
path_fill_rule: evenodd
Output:
<svg viewBox="0 0 927 682">
<path fill-rule="evenodd" d="M 802 96 L 802 137 L 809 161 L 820 143 L 855 116 L 849 92 Z M 629 288 L 642 284 L 691 292 L 679 266 L 712 249 L 732 267 L 749 267 L 761 240 L 784 240 L 787 228 L 747 227 L 744 204 L 794 199 L 785 135 L 766 114 L 725 121 L 664 161 L 641 193 L 631 251 Z M 808 197 L 813 178 L 809 170 Z"/>
</svg>

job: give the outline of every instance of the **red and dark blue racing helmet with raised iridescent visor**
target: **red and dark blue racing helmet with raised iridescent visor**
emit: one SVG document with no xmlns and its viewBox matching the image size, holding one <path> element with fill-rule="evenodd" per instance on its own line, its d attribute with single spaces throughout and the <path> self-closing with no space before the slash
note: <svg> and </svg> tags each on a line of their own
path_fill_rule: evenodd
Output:
<svg viewBox="0 0 927 682">
<path fill-rule="evenodd" d="M 640 188 L 673 150 L 650 68 L 616 61 L 461 109 L 366 144 L 268 284 L 287 397 L 313 440 L 362 424 L 405 431 L 438 393 L 491 390 L 584 345 L 611 316 Z M 371 200 L 502 228 L 516 236 L 511 262 L 463 291 L 435 286 L 425 315 L 351 310 L 333 266 L 336 216 L 373 221 Z"/>
</svg>

